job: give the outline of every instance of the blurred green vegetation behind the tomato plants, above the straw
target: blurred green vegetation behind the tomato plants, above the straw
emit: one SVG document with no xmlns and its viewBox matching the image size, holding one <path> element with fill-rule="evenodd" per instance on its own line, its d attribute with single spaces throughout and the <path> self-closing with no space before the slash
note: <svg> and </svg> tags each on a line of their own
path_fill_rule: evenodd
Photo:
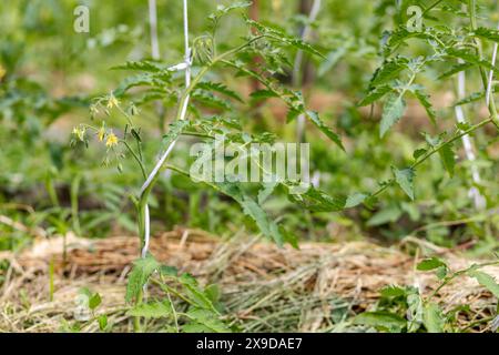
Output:
<svg viewBox="0 0 499 355">
<path fill-rule="evenodd" d="M 228 2 L 191 1 L 193 38 L 206 29 L 206 17 L 216 4 Z M 90 8 L 90 33 L 73 30 L 78 4 Z M 356 105 L 379 65 L 383 32 L 401 21 L 395 4 L 325 0 L 317 21 L 310 24 L 309 40 L 326 60 L 306 58 L 304 93 L 326 123 L 342 133 L 347 148 L 343 153 L 313 128 L 307 130 L 313 171 L 320 176 L 320 189 L 330 194 L 373 192 L 379 181 L 390 178 L 391 165 L 409 164 L 413 151 L 425 141 L 418 132 L 436 133 L 455 124 L 454 81 L 436 81 L 438 67 L 419 79 L 432 93 L 438 129 L 429 123 L 424 110 L 409 103 L 404 121 L 379 139 L 379 108 L 370 112 L 369 108 Z M 176 64 L 183 55 L 182 2 L 157 0 L 157 6 L 162 60 Z M 255 6 L 259 21 L 297 34 L 307 23 L 308 12 L 303 9 L 308 9 L 310 1 L 267 0 Z M 481 21 L 495 27 L 490 24 L 496 17 L 492 8 L 492 2 L 485 2 L 481 11 L 487 17 Z M 220 41 L 237 43 L 245 33 L 237 17 L 224 21 Z M 415 44 L 405 50 L 417 57 L 428 49 Z M 109 93 L 123 79 L 122 72 L 111 68 L 150 57 L 146 0 L 0 3 L 0 250 L 20 250 L 43 233 L 136 235 L 129 195 L 140 189 L 142 178 L 133 163 L 125 163 L 119 172 L 112 164 L 102 164 L 103 148 L 73 149 L 69 143 L 72 128 L 89 121 L 91 99 Z M 288 78 L 283 82 L 291 85 Z M 479 90 L 479 84 L 475 89 Z M 469 88 L 470 92 L 476 90 Z M 169 118 L 175 102 L 165 98 L 164 105 Z M 480 105 L 469 106 L 468 113 L 478 115 Z M 266 129 L 283 141 L 294 139 L 295 129 L 283 124 L 285 113 L 278 106 L 242 104 L 234 116 L 248 130 Z M 120 120 L 111 118 L 109 124 L 118 125 Z M 161 122 L 153 104 L 142 108 L 141 125 L 147 136 L 145 154 L 152 162 L 161 143 Z M 471 243 L 473 253 L 490 252 L 497 250 L 499 231 L 499 143 L 493 130 L 482 130 L 473 140 L 482 178 L 477 187 L 487 200 L 481 211 L 475 209 L 468 195 L 472 185 L 470 163 L 462 159 L 462 152 L 454 179 L 445 173 L 438 158 L 418 170 L 415 203 L 394 187 L 373 209 L 312 213 L 279 194 L 272 196 L 265 209 L 281 216 L 302 240 L 371 239 L 394 243 L 413 235 L 447 246 Z M 173 160 L 182 164 L 187 154 L 185 142 Z M 176 174 L 162 178 L 151 206 L 153 232 L 175 226 L 198 227 L 226 237 L 242 229 L 256 232 L 234 202 Z"/>
</svg>

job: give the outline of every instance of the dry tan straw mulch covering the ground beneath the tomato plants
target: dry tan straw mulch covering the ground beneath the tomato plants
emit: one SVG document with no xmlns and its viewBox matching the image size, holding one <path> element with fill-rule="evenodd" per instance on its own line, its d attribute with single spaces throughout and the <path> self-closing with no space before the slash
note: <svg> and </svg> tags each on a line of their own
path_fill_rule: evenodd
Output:
<svg viewBox="0 0 499 355">
<path fill-rule="evenodd" d="M 472 261 L 448 250 L 417 240 L 421 253 L 440 254 L 452 270 L 468 267 Z M 54 332 L 73 322 L 75 300 L 81 287 L 103 297 L 101 313 L 129 331 L 124 305 L 126 274 L 138 255 L 136 237 L 84 240 L 39 240 L 19 255 L 0 253 L 10 267 L 0 290 L 0 331 Z M 404 246 L 401 245 L 401 246 Z M 216 283 L 232 322 L 247 332 L 352 331 L 346 315 L 371 310 L 386 285 L 414 285 L 424 294 L 437 286 L 435 276 L 415 271 L 419 256 L 398 247 L 366 242 L 342 244 L 303 243 L 301 250 L 278 248 L 258 239 L 235 236 L 221 241 L 205 232 L 176 230 L 152 240 L 151 252 L 164 264 L 190 272 L 203 284 Z M 420 253 L 416 253 L 420 255 Z M 49 300 L 49 264 L 54 265 L 54 294 Z M 486 272 L 499 277 L 499 267 Z M 442 288 L 439 301 L 445 310 L 460 304 L 471 307 L 459 322 L 465 327 L 490 317 L 497 301 L 475 280 L 461 277 Z M 96 324 L 83 331 L 96 331 Z"/>
</svg>

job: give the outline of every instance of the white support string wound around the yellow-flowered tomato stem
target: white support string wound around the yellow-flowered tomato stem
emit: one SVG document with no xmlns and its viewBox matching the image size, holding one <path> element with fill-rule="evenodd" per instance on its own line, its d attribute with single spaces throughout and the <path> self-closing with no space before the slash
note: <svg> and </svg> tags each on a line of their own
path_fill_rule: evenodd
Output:
<svg viewBox="0 0 499 355">
<path fill-rule="evenodd" d="M 187 12 L 187 0 L 183 0 L 183 7 L 184 7 L 184 44 L 185 44 L 185 55 L 184 55 L 184 63 L 177 64 L 172 67 L 170 70 L 185 70 L 185 89 L 187 89 L 191 85 L 191 48 L 189 45 L 189 12 Z M 186 97 L 186 99 L 183 102 L 180 120 L 185 120 L 186 113 L 187 113 L 187 106 L 189 106 L 190 95 Z M 163 155 L 157 161 L 156 165 L 152 170 L 151 174 L 145 180 L 145 183 L 142 185 L 141 189 L 141 195 L 150 187 L 151 183 L 153 182 L 154 178 L 157 175 L 157 172 L 163 166 L 164 162 L 169 158 L 170 153 L 173 151 L 173 148 L 176 144 L 176 140 L 174 140 L 170 146 L 166 149 L 166 151 L 163 153 Z M 145 204 L 145 211 L 144 211 L 144 246 L 142 248 L 142 257 L 145 257 L 147 255 L 149 251 L 149 244 L 150 244 L 150 237 L 151 237 L 151 221 L 150 221 L 150 213 L 149 213 L 149 204 Z"/>
</svg>

